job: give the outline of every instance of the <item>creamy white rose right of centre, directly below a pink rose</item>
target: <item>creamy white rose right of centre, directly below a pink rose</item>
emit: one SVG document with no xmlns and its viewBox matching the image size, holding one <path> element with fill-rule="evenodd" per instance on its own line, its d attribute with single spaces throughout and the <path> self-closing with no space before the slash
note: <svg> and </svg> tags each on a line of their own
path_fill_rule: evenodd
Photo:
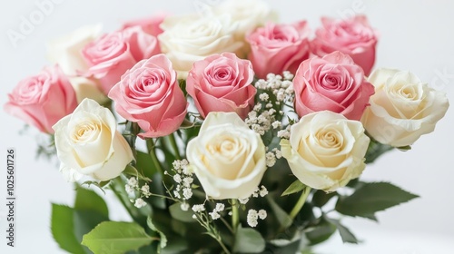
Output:
<svg viewBox="0 0 454 254">
<path fill-rule="evenodd" d="M 302 183 L 334 191 L 360 176 L 369 142 L 361 122 L 335 112 L 313 112 L 291 126 L 281 152 Z"/>
</svg>

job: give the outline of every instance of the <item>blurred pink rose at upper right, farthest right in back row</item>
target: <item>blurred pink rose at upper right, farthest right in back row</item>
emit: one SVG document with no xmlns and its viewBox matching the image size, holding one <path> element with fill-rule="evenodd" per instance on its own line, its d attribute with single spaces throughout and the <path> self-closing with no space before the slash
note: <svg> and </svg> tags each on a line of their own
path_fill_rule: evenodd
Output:
<svg viewBox="0 0 454 254">
<path fill-rule="evenodd" d="M 313 54 L 323 56 L 334 51 L 349 54 L 366 75 L 375 62 L 375 46 L 378 35 L 370 27 L 367 17 L 357 15 L 347 20 L 321 18 L 323 27 L 315 32 L 311 42 Z"/>
</svg>

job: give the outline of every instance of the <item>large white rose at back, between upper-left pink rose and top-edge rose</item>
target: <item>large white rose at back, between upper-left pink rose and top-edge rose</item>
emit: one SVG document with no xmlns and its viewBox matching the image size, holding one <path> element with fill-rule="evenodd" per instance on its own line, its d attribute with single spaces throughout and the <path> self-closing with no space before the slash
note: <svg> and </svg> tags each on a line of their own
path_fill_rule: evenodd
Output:
<svg viewBox="0 0 454 254">
<path fill-rule="evenodd" d="M 195 61 L 212 54 L 237 53 L 243 45 L 233 35 L 235 26 L 229 15 L 168 17 L 162 28 L 161 49 L 183 79 Z"/>
</svg>

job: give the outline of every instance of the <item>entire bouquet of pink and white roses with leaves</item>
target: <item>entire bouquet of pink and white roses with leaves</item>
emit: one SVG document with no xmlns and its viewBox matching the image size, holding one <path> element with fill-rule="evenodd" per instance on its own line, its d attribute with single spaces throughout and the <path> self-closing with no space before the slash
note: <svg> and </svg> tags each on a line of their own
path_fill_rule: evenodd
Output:
<svg viewBox="0 0 454 254">
<path fill-rule="evenodd" d="M 417 197 L 358 178 L 432 132 L 446 95 L 372 71 L 365 16 L 322 18 L 315 34 L 274 16 L 229 0 L 49 44 L 54 65 L 19 82 L 5 111 L 51 137 L 76 184 L 73 207 L 53 204 L 62 249 L 295 253 L 335 231 L 356 243 L 342 216 L 376 220 Z M 131 221 L 109 220 L 105 191 Z"/>
</svg>

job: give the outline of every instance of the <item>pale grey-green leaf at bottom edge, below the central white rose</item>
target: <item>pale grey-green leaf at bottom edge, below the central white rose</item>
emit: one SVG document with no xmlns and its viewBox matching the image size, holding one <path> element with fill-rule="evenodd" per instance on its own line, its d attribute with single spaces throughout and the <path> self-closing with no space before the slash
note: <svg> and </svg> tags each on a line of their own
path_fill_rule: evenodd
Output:
<svg viewBox="0 0 454 254">
<path fill-rule="evenodd" d="M 265 249 L 265 240 L 262 235 L 251 228 L 238 227 L 235 235 L 233 252 L 261 253 Z"/>
</svg>

